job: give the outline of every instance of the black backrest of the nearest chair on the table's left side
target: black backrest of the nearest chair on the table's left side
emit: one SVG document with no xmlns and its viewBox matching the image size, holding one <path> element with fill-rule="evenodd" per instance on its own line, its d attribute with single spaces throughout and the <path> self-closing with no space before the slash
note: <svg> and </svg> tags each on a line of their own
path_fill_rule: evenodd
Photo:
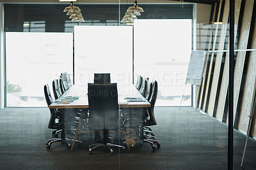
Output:
<svg viewBox="0 0 256 170">
<path fill-rule="evenodd" d="M 51 92 L 48 84 L 44 85 L 44 97 L 45 97 L 47 106 L 50 106 L 50 104 L 53 103 L 53 100 L 52 100 L 52 96 L 51 96 Z M 56 110 L 50 109 L 50 113 L 51 113 L 51 117 L 49 120 L 48 128 L 53 129 L 55 118 L 56 118 Z"/>
</svg>

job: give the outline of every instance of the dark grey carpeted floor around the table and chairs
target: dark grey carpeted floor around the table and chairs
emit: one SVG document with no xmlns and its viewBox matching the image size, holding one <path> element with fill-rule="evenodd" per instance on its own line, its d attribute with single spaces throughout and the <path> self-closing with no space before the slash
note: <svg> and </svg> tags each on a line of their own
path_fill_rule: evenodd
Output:
<svg viewBox="0 0 256 170">
<path fill-rule="evenodd" d="M 73 151 L 54 143 L 48 108 L 0 110 L 0 169 L 227 169 L 227 125 L 193 108 L 157 107 L 152 127 L 161 148 L 149 144 L 110 156 L 88 154 L 88 144 Z M 234 169 L 241 169 L 246 137 L 234 131 Z M 256 169 L 256 142 L 249 140 L 243 169 Z"/>
</svg>

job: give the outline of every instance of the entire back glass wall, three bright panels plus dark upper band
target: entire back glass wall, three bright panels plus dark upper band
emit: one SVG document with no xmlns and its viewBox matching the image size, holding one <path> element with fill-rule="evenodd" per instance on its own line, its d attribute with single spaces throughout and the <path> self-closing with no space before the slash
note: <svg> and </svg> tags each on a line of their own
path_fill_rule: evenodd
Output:
<svg viewBox="0 0 256 170">
<path fill-rule="evenodd" d="M 154 24 L 148 24 L 144 25 L 146 26 L 144 31 L 138 32 L 136 26 L 139 27 L 140 24 L 136 25 L 135 23 L 133 34 L 132 26 L 119 23 L 119 12 L 122 19 L 125 11 L 131 5 L 129 3 L 121 4 L 119 10 L 118 4 L 79 4 L 85 22 L 71 22 L 66 13 L 63 13 L 63 9 L 68 6 L 68 3 L 4 4 L 6 106 L 45 106 L 42 85 L 45 83 L 51 84 L 51 81 L 63 71 L 74 74 L 76 83 L 79 85 L 92 82 L 93 73 L 96 72 L 111 73 L 113 82 L 131 85 L 133 55 L 134 62 L 144 61 L 146 56 L 141 52 L 148 53 L 150 50 L 155 50 L 158 53 L 154 57 L 148 55 L 146 59 L 148 61 L 149 59 L 157 59 L 153 62 L 156 70 L 152 74 L 150 72 L 141 74 L 159 80 L 158 99 L 162 104 L 157 103 L 157 105 L 179 105 L 177 102 L 173 102 L 172 99 L 172 102 L 169 100 L 173 96 L 178 98 L 181 94 L 177 92 L 172 94 L 168 88 L 175 85 L 177 87 L 181 86 L 180 89 L 183 90 L 186 73 L 176 69 L 175 72 L 164 69 L 164 67 L 168 68 L 170 66 L 173 69 L 177 67 L 173 64 L 172 57 L 169 56 L 170 50 L 166 50 L 170 48 L 173 37 L 164 41 L 161 39 L 166 32 L 169 34 L 171 29 L 169 27 L 166 28 L 170 30 L 160 26 L 154 27 Z M 141 4 L 140 6 L 145 12 L 138 16 L 136 22 L 142 19 L 152 20 L 152 22 L 154 19 L 193 19 L 192 4 Z M 76 27 L 76 31 L 74 27 Z M 191 25 L 189 28 L 191 29 Z M 41 34 L 39 32 L 51 33 Z M 53 32 L 74 32 L 74 39 L 72 34 Z M 160 39 L 157 39 L 157 34 L 159 34 L 158 38 Z M 132 50 L 132 38 L 134 38 L 134 50 Z M 140 41 L 141 38 L 142 41 Z M 151 46 L 148 45 L 148 38 L 154 38 L 150 39 Z M 191 38 L 191 30 L 189 30 L 189 38 Z M 154 46 L 152 46 L 153 44 Z M 147 45 L 148 48 L 146 48 Z M 74 53 L 76 60 L 73 61 Z M 49 61 L 50 59 L 52 60 L 51 63 L 45 62 L 45 60 Z M 136 59 L 138 60 L 136 61 Z M 178 67 L 185 70 L 186 64 L 184 63 L 186 61 L 175 61 L 176 64 L 177 62 L 182 63 Z M 140 73 L 140 70 L 139 67 L 137 67 L 137 70 L 136 66 L 134 67 L 136 81 L 136 76 Z M 49 76 L 45 78 L 45 74 Z M 36 78 L 34 78 L 35 76 Z M 157 76 L 162 78 L 159 79 Z M 73 78 L 73 76 L 71 77 Z M 163 86 L 168 88 L 164 89 Z M 191 105 L 190 95 L 191 89 L 188 87 L 185 91 L 185 101 L 182 104 Z"/>
</svg>

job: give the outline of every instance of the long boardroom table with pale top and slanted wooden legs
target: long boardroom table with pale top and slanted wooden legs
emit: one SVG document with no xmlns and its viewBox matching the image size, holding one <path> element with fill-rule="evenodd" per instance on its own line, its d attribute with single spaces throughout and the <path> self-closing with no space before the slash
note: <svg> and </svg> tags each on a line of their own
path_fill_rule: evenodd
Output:
<svg viewBox="0 0 256 170">
<path fill-rule="evenodd" d="M 143 111 L 140 111 L 148 108 L 151 106 L 151 104 L 141 95 L 141 93 L 132 86 L 118 86 L 118 104 L 120 108 L 132 110 L 133 112 L 136 112 L 136 115 L 139 114 L 139 117 L 141 119 L 145 115 L 143 114 Z M 49 108 L 50 109 L 72 109 L 72 108 L 89 108 L 88 104 L 88 86 L 87 85 L 73 85 L 68 89 L 60 98 L 56 99 L 54 103 L 52 103 Z M 71 100 L 68 102 L 67 97 L 74 97 L 75 100 Z M 127 98 L 136 98 L 139 97 L 142 99 L 142 101 L 138 101 L 136 99 L 127 99 Z M 126 98 L 126 99 L 125 99 Z M 74 136 L 74 141 L 72 143 L 71 150 L 74 148 L 74 144 L 76 143 L 77 135 L 79 133 L 81 121 L 83 119 L 83 115 L 81 115 L 81 118 L 79 119 L 79 123 L 77 125 L 76 134 Z M 143 124 L 143 120 L 141 120 Z M 143 125 L 141 126 L 143 128 Z M 141 132 L 143 132 L 143 129 L 141 129 Z M 142 134 L 143 136 L 143 134 Z M 129 148 L 129 145 L 127 144 L 127 147 Z"/>
</svg>

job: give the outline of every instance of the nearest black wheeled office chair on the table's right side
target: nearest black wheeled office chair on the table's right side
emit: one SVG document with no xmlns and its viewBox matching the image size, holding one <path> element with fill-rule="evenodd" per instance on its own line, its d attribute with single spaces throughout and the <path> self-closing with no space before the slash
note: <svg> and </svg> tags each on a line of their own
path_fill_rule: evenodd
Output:
<svg viewBox="0 0 256 170">
<path fill-rule="evenodd" d="M 150 128 L 150 126 L 157 124 L 156 118 L 154 115 L 154 107 L 155 107 L 155 103 L 156 103 L 156 99 L 157 99 L 157 91 L 158 91 L 157 81 L 154 81 L 152 86 L 153 86 L 152 95 L 149 99 L 149 103 L 151 104 L 151 106 L 150 106 L 150 108 L 147 109 L 148 116 L 145 118 L 145 122 L 143 125 L 144 126 L 143 127 L 143 136 L 144 136 L 143 141 L 146 143 L 150 143 L 152 146 L 152 149 L 156 150 L 155 144 L 157 144 L 157 147 L 160 147 L 161 144 L 156 139 L 155 134 L 152 131 L 152 129 Z"/>
</svg>

